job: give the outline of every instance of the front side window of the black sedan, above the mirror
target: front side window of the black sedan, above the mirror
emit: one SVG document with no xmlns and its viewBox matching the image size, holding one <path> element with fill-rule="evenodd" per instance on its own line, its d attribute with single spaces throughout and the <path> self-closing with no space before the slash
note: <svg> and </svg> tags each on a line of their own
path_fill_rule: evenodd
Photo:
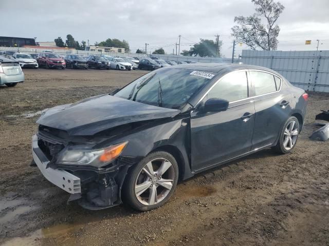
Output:
<svg viewBox="0 0 329 246">
<path fill-rule="evenodd" d="M 248 97 L 246 72 L 232 72 L 219 81 L 208 93 L 207 98 L 222 98 L 236 101 Z"/>
</svg>

